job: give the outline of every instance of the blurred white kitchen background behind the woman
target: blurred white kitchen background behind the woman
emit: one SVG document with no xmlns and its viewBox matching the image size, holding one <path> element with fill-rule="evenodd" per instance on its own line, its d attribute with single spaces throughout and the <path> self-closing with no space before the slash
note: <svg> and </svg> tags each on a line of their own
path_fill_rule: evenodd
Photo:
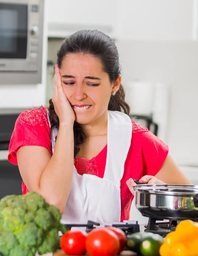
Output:
<svg viewBox="0 0 198 256">
<path fill-rule="evenodd" d="M 0 0 L 0 8 L 11 2 L 21 3 Z M 37 71 L 16 76 L 3 70 L 0 57 L 0 198 L 21 192 L 17 166 L 6 160 L 14 122 L 21 111 L 48 104 L 57 50 L 62 38 L 79 29 L 98 29 L 113 38 L 133 118 L 151 123 L 181 170 L 198 184 L 198 0 L 29 2 L 43 4 L 40 29 L 31 28 L 32 42 L 38 39 Z M 2 24 L 0 12 L 0 29 Z M 131 218 L 144 217 L 132 206 Z"/>
</svg>

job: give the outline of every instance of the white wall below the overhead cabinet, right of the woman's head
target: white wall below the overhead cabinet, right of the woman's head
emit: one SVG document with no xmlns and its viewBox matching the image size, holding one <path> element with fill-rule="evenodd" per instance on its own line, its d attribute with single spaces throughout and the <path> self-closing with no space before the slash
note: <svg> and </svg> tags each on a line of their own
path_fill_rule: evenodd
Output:
<svg viewBox="0 0 198 256">
<path fill-rule="evenodd" d="M 178 164 L 198 165 L 198 42 L 119 40 L 124 83 L 170 87 L 167 143 Z"/>
</svg>

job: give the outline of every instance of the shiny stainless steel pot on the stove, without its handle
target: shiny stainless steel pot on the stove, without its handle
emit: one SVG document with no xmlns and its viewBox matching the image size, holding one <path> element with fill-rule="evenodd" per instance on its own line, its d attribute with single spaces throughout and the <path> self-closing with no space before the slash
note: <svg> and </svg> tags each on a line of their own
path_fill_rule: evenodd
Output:
<svg viewBox="0 0 198 256">
<path fill-rule="evenodd" d="M 198 219 L 198 186 L 140 184 L 133 186 L 136 208 L 158 219 Z"/>
</svg>

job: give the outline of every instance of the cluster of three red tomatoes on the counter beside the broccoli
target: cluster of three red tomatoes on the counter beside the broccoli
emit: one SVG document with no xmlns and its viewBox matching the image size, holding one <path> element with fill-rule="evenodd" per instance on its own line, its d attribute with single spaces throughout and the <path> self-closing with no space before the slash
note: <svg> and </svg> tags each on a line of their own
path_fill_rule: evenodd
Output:
<svg viewBox="0 0 198 256">
<path fill-rule="evenodd" d="M 104 227 L 86 233 L 69 230 L 61 238 L 61 248 L 69 255 L 115 256 L 125 248 L 126 236 L 116 227 Z"/>
</svg>

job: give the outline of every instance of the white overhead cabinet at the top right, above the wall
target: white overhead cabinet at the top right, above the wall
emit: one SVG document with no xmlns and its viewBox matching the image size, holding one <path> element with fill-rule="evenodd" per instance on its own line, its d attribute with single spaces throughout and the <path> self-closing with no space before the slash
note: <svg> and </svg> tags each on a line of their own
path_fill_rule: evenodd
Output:
<svg viewBox="0 0 198 256">
<path fill-rule="evenodd" d="M 196 3 L 197 0 L 119 0 L 118 37 L 135 40 L 195 38 Z"/>
</svg>

